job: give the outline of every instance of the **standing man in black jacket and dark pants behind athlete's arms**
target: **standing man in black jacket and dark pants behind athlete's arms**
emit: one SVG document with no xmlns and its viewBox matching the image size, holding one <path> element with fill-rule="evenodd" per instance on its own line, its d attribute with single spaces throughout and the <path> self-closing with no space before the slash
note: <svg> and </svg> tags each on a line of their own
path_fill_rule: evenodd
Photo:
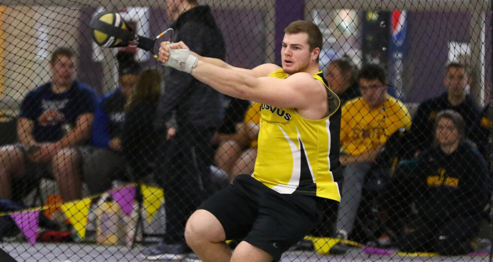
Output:
<svg viewBox="0 0 493 262">
<path fill-rule="evenodd" d="M 225 59 L 224 39 L 209 6 L 198 6 L 196 0 L 166 2 L 174 21 L 173 42 L 184 41 L 202 56 Z M 191 252 L 184 240 L 185 223 L 210 193 L 211 137 L 224 115 L 222 94 L 188 73 L 165 70 L 155 125 L 169 138 L 163 139 L 156 177 L 165 192 L 166 234 L 162 242 L 142 251 L 147 259 L 182 259 Z M 168 124 L 172 116 L 176 127 Z"/>
</svg>

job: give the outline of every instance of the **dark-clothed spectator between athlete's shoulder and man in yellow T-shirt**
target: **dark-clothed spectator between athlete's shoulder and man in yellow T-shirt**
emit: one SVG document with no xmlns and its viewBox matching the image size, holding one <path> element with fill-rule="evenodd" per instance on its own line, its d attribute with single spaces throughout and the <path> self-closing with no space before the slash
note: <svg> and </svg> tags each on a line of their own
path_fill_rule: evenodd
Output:
<svg viewBox="0 0 493 262">
<path fill-rule="evenodd" d="M 343 59 L 332 60 L 327 67 L 325 78 L 329 83 L 330 89 L 341 100 L 341 106 L 346 101 L 361 96 L 356 79 L 357 76 L 357 68 L 352 64 L 351 58 L 347 55 Z"/>
</svg>

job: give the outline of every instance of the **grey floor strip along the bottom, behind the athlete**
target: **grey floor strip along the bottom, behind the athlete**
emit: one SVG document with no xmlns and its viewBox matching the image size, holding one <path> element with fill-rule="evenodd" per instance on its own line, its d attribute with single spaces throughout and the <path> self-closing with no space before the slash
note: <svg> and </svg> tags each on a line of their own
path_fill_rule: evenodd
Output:
<svg viewBox="0 0 493 262">
<path fill-rule="evenodd" d="M 139 256 L 143 246 L 132 250 L 122 246 L 101 246 L 92 244 L 55 244 L 37 243 L 34 246 L 26 242 L 0 243 L 1 248 L 18 262 L 143 262 Z M 426 261 L 426 262 L 479 262 L 490 261 L 489 257 L 401 257 L 368 256 L 361 249 L 352 249 L 345 256 L 321 256 L 314 252 L 289 252 L 282 257 L 282 262 L 346 262 L 346 261 Z"/>
</svg>

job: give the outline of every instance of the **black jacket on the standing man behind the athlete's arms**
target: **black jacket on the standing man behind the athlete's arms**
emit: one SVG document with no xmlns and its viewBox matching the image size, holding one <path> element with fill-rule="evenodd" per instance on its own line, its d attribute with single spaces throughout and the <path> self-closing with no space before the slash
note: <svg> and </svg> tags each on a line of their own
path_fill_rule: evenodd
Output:
<svg viewBox="0 0 493 262">
<path fill-rule="evenodd" d="M 222 33 L 209 6 L 197 6 L 181 14 L 171 26 L 173 42 L 183 41 L 190 50 L 205 57 L 225 59 Z M 178 130 L 192 125 L 219 127 L 224 117 L 223 95 L 198 81 L 191 74 L 165 68 L 165 92 L 157 109 L 156 128 L 164 130 L 175 113 Z"/>
</svg>

